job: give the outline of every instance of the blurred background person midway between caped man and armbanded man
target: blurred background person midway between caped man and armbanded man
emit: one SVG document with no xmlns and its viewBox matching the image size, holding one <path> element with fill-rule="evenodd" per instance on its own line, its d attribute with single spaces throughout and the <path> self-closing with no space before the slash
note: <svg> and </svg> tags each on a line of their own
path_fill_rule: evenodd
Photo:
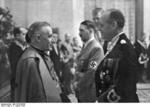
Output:
<svg viewBox="0 0 150 107">
<path fill-rule="evenodd" d="M 74 64 L 73 60 L 73 49 L 71 46 L 71 35 L 69 33 L 65 34 L 65 42 L 61 45 L 62 51 L 62 85 L 63 92 L 65 95 L 69 96 L 72 94 L 71 82 L 73 79 L 73 74 L 71 69 Z"/>
</svg>

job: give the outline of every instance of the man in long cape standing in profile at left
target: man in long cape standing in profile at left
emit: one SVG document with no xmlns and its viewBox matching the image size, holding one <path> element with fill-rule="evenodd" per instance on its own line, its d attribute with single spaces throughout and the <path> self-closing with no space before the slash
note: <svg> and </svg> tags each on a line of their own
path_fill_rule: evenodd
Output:
<svg viewBox="0 0 150 107">
<path fill-rule="evenodd" d="M 15 102 L 60 102 L 60 88 L 52 61 L 52 28 L 47 22 L 33 23 L 28 32 L 30 46 L 19 59 Z"/>
</svg>

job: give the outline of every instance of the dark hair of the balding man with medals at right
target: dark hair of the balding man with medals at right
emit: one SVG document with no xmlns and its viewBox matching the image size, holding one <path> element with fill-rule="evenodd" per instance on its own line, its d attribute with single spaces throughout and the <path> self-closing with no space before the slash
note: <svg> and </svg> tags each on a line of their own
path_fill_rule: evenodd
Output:
<svg viewBox="0 0 150 107">
<path fill-rule="evenodd" d="M 123 28 L 125 24 L 125 18 L 124 15 L 120 10 L 117 9 L 109 9 L 110 15 L 109 15 L 109 21 L 116 21 L 119 28 Z"/>
</svg>

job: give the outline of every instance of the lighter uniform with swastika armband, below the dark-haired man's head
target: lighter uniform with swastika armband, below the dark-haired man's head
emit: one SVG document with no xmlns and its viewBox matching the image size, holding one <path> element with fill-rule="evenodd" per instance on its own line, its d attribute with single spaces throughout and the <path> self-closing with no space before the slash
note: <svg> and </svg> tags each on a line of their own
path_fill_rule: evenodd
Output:
<svg viewBox="0 0 150 107">
<path fill-rule="evenodd" d="M 91 40 L 77 57 L 74 83 L 77 83 L 76 96 L 79 102 L 95 102 L 95 70 L 104 57 L 102 46 Z"/>
</svg>

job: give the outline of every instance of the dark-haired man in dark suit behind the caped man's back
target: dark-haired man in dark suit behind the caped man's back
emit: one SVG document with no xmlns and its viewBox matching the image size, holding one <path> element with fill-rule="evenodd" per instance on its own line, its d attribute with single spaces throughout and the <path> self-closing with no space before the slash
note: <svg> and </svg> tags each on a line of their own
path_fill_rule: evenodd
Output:
<svg viewBox="0 0 150 107">
<path fill-rule="evenodd" d="M 11 101 L 14 101 L 14 90 L 15 90 L 15 78 L 16 78 L 16 67 L 19 58 L 26 48 L 25 35 L 27 30 L 25 28 L 16 27 L 14 28 L 14 41 L 10 44 L 8 49 L 8 57 L 11 68 Z"/>
</svg>

